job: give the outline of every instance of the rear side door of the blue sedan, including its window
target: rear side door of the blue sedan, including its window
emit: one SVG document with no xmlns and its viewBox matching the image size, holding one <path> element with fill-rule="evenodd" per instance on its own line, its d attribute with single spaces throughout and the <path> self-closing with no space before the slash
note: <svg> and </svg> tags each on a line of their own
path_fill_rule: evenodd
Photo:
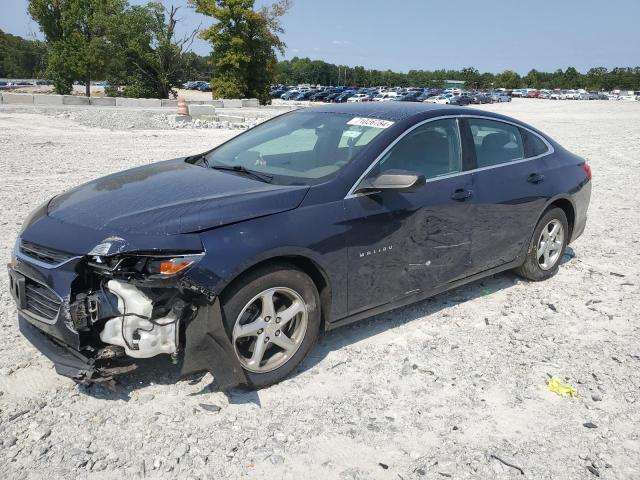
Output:
<svg viewBox="0 0 640 480">
<path fill-rule="evenodd" d="M 514 260 L 529 242 L 550 184 L 550 146 L 515 124 L 469 117 L 464 121 L 475 153 L 473 273 Z"/>
</svg>

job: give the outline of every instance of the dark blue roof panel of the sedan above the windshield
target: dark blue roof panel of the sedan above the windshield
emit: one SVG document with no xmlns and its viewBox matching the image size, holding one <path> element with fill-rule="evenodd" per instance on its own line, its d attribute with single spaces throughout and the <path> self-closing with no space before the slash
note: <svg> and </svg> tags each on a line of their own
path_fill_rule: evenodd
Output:
<svg viewBox="0 0 640 480">
<path fill-rule="evenodd" d="M 399 122 L 411 117 L 429 118 L 439 115 L 482 115 L 485 117 L 505 118 L 485 110 L 467 107 L 438 105 L 435 103 L 413 102 L 365 102 L 365 103 L 333 103 L 305 109 L 311 112 L 344 113 L 359 117 L 380 118 Z"/>
</svg>

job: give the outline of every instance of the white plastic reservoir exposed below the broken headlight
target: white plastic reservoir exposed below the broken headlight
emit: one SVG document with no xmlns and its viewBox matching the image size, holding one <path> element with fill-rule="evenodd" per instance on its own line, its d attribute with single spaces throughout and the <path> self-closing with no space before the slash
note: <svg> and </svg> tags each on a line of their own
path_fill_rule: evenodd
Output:
<svg viewBox="0 0 640 480">
<path fill-rule="evenodd" d="M 164 325 L 154 325 L 149 320 L 140 318 L 151 317 L 153 310 L 151 300 L 144 293 L 133 285 L 117 280 L 109 280 L 107 288 L 118 297 L 120 313 L 127 316 L 108 320 L 100 332 L 100 340 L 124 347 L 126 354 L 135 358 L 176 352 L 177 322 L 173 311 L 166 317 L 153 319 L 156 324 Z M 135 315 L 129 315 L 132 313 Z"/>
</svg>

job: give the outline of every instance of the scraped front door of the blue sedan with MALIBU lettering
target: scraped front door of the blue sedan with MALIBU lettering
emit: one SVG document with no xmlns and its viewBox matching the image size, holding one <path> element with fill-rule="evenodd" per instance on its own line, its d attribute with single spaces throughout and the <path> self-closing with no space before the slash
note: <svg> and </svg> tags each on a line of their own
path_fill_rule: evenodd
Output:
<svg viewBox="0 0 640 480">
<path fill-rule="evenodd" d="M 388 170 L 420 173 L 427 183 L 413 193 L 345 199 L 351 314 L 431 291 L 471 268 L 471 174 L 462 172 L 457 120 L 414 128 L 367 178 Z"/>
</svg>

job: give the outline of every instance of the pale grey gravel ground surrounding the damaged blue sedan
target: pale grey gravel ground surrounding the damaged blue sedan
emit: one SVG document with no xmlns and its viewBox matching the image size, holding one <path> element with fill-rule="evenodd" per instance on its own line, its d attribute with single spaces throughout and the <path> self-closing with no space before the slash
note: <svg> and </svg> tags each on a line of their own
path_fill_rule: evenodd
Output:
<svg viewBox="0 0 640 480">
<path fill-rule="evenodd" d="M 593 168 L 587 231 L 557 276 L 501 274 L 339 329 L 292 378 L 223 394 L 166 360 L 115 391 L 58 377 L 19 335 L 2 274 L 2 477 L 640 478 L 640 103 L 483 108 Z M 0 257 L 61 190 L 237 133 L 91 115 L 0 107 Z M 578 396 L 549 392 L 548 375 Z"/>
</svg>

